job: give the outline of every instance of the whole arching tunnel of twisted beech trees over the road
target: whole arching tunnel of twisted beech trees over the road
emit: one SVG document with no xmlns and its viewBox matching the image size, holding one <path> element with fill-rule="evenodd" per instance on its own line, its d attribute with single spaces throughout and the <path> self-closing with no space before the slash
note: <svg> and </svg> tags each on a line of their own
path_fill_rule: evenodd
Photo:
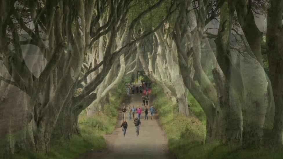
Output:
<svg viewBox="0 0 283 159">
<path fill-rule="evenodd" d="M 6 154 L 47 153 L 52 134 L 71 140 L 79 114 L 103 111 L 138 70 L 180 114 L 194 115 L 192 94 L 206 143 L 282 147 L 283 0 L 1 0 L 0 8 Z"/>
</svg>

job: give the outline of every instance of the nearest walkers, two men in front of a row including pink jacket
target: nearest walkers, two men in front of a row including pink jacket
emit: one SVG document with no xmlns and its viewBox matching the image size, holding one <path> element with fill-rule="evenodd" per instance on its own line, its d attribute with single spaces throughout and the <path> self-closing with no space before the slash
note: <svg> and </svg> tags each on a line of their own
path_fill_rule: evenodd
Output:
<svg viewBox="0 0 283 159">
<path fill-rule="evenodd" d="M 154 114 L 154 107 L 153 105 L 150 106 L 149 108 L 149 112 L 150 112 L 150 120 L 153 120 L 153 114 Z M 122 114 L 123 114 L 123 123 L 121 125 L 121 127 L 123 127 L 123 131 L 124 131 L 124 136 L 126 135 L 126 130 L 128 127 L 128 123 L 126 121 L 126 113 L 128 113 L 128 120 L 132 120 L 132 115 L 133 115 L 133 119 L 134 119 L 134 124 L 136 127 L 136 133 L 137 136 L 139 136 L 139 125 L 141 125 L 141 106 L 135 108 L 135 106 L 133 105 L 133 107 L 131 107 L 129 105 L 128 109 L 126 108 L 126 106 L 123 107 L 122 109 Z M 144 120 L 148 120 L 148 108 L 147 106 L 145 106 L 145 110 L 144 110 L 145 116 L 144 116 Z M 136 114 L 136 116 L 135 116 Z"/>
</svg>

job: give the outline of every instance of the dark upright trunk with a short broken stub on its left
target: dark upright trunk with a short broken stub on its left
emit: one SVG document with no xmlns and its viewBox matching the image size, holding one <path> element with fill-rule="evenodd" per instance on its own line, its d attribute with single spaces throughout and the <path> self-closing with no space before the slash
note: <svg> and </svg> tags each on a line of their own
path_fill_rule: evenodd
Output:
<svg viewBox="0 0 283 159">
<path fill-rule="evenodd" d="M 242 112 L 239 105 L 235 104 L 231 84 L 231 52 L 230 34 L 232 28 L 233 14 L 235 9 L 231 3 L 224 3 L 221 8 L 221 17 L 217 38 L 215 39 L 217 49 L 217 62 L 221 68 L 213 69 L 213 77 L 217 86 L 219 107 L 218 126 L 224 126 L 224 142 L 240 142 L 242 137 Z M 219 114 L 219 115 L 218 115 Z M 216 124 L 216 122 L 215 122 Z"/>
</svg>

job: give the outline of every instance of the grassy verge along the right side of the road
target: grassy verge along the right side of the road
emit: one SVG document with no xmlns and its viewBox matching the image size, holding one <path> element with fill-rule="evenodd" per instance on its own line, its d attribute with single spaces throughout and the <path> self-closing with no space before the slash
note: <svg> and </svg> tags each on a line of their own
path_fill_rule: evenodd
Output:
<svg viewBox="0 0 283 159">
<path fill-rule="evenodd" d="M 240 145 L 219 142 L 202 144 L 206 133 L 206 116 L 193 96 L 188 95 L 188 103 L 196 117 L 185 117 L 174 112 L 177 105 L 166 98 L 161 88 L 155 86 L 152 90 L 155 95 L 153 104 L 166 132 L 169 150 L 177 158 L 283 158 L 282 150 L 243 149 Z"/>
</svg>

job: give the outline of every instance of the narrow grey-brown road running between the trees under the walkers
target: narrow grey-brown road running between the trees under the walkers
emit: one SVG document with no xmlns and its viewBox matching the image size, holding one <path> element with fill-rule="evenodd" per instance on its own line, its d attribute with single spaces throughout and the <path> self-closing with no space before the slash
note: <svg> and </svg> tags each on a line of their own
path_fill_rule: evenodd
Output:
<svg viewBox="0 0 283 159">
<path fill-rule="evenodd" d="M 131 99 L 128 105 L 134 105 L 135 107 L 138 105 L 142 106 L 141 95 L 135 94 L 129 97 Z M 103 152 L 90 152 L 84 158 L 173 158 L 168 151 L 168 141 L 159 124 L 157 114 L 155 114 L 153 121 L 150 121 L 149 115 L 149 120 L 144 120 L 144 109 L 145 107 L 142 107 L 143 112 L 141 114 L 139 136 L 135 134 L 133 120 L 128 121 L 128 114 L 126 115 L 128 128 L 126 136 L 123 136 L 122 128 L 120 128 L 122 123 L 122 111 L 120 110 L 115 131 L 112 134 L 104 136 L 107 141 L 107 150 Z"/>
</svg>

